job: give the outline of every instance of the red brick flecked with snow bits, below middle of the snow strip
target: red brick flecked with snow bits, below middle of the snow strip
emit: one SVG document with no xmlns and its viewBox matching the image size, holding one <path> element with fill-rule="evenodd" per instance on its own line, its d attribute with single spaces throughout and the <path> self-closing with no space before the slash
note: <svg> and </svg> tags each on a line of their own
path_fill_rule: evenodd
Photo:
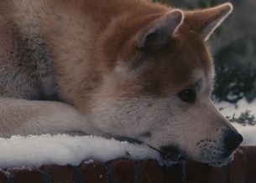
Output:
<svg viewBox="0 0 256 183">
<path fill-rule="evenodd" d="M 98 161 L 81 165 L 83 182 L 107 183 L 107 168 Z"/>
</svg>

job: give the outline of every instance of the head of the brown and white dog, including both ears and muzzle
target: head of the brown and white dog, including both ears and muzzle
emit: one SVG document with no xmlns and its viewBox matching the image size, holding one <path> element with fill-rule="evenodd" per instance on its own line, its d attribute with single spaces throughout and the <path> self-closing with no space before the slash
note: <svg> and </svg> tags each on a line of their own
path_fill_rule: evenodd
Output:
<svg viewBox="0 0 256 183">
<path fill-rule="evenodd" d="M 184 155 L 208 163 L 227 160 L 243 137 L 210 99 L 214 65 L 206 40 L 231 12 L 225 3 L 113 25 L 101 49 L 101 59 L 108 61 L 93 94 L 91 124 L 172 160 Z"/>
</svg>

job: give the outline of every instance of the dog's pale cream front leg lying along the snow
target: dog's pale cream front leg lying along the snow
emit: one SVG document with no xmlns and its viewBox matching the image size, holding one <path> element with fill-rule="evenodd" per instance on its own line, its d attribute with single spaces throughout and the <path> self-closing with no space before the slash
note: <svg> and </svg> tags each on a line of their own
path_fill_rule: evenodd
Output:
<svg viewBox="0 0 256 183">
<path fill-rule="evenodd" d="M 86 117 L 68 104 L 0 98 L 0 137 L 91 134 Z"/>
</svg>

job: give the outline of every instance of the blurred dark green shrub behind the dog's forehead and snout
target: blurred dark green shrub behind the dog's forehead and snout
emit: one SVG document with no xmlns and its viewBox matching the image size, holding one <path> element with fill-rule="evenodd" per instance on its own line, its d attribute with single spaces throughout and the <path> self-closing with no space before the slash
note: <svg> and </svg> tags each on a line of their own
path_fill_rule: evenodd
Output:
<svg viewBox="0 0 256 183">
<path fill-rule="evenodd" d="M 239 38 L 215 54 L 217 100 L 237 103 L 239 99 L 255 99 L 256 66 L 250 62 L 250 46 L 250 40 Z"/>
</svg>

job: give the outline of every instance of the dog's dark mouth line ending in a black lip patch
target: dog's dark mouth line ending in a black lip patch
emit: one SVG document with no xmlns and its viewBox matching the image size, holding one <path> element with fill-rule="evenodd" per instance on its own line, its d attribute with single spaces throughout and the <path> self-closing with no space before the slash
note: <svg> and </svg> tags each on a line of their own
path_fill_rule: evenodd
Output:
<svg viewBox="0 0 256 183">
<path fill-rule="evenodd" d="M 163 146 L 160 149 L 154 148 L 140 140 L 134 140 L 133 138 L 126 136 L 116 136 L 114 139 L 119 141 L 127 141 L 128 143 L 135 145 L 147 145 L 149 148 L 159 152 L 159 155 L 164 161 L 180 162 L 186 159 L 186 153 L 184 150 L 180 150 L 177 145 Z"/>
</svg>

